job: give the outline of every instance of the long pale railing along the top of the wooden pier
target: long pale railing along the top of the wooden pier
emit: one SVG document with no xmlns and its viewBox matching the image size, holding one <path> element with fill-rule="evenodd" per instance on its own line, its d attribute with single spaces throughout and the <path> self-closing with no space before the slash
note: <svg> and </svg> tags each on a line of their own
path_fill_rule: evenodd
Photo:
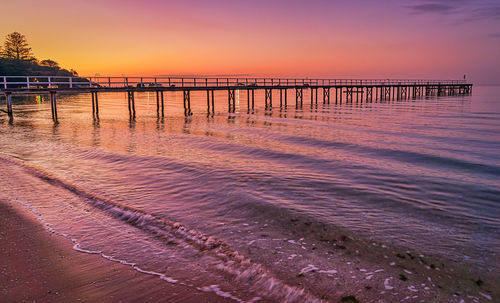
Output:
<svg viewBox="0 0 500 303">
<path fill-rule="evenodd" d="M 310 79 L 310 78 L 214 78 L 214 77 L 58 77 L 0 76 L 0 90 L 92 89 L 92 88 L 213 88 L 213 87 L 294 87 L 351 85 L 457 85 L 465 80 L 427 79 Z"/>
</svg>

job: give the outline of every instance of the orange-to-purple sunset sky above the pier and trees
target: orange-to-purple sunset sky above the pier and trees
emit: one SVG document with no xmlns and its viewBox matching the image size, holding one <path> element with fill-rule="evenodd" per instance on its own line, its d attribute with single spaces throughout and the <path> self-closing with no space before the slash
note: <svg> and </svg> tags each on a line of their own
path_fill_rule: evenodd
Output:
<svg viewBox="0 0 500 303">
<path fill-rule="evenodd" d="M 0 0 L 0 43 L 84 76 L 467 79 L 500 84 L 495 0 Z"/>
</svg>

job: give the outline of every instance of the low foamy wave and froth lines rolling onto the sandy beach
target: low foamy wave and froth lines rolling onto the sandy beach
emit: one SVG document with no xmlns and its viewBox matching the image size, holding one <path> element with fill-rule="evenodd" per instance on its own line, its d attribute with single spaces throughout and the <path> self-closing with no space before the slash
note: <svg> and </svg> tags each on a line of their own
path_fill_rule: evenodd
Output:
<svg viewBox="0 0 500 303">
<path fill-rule="evenodd" d="M 57 178 L 56 176 L 52 176 L 48 172 L 29 166 L 19 160 L 0 157 L 0 161 L 20 166 L 27 173 L 54 186 L 58 186 L 64 190 L 72 192 L 91 206 L 105 212 L 107 215 L 154 235 L 156 238 L 163 240 L 169 245 L 189 245 L 192 248 L 196 248 L 200 253 L 210 256 L 216 260 L 215 269 L 231 275 L 235 282 L 245 285 L 249 291 L 258 294 L 261 297 L 280 302 L 323 302 L 312 294 L 307 293 L 304 289 L 287 285 L 285 282 L 274 277 L 261 264 L 252 262 L 221 239 L 213 236 L 206 236 L 197 230 L 184 226 L 180 222 L 171 222 L 164 218 L 147 214 L 141 210 L 123 205 L 109 198 L 88 192 L 74 184 L 70 184 Z M 36 210 L 34 213 L 41 217 Z M 53 230 L 49 229 L 49 231 L 55 233 Z M 65 236 L 63 234 L 59 235 Z M 175 281 L 161 273 L 143 270 L 136 264 L 128 262 L 123 263 L 124 261 L 122 262 L 112 256 L 104 255 L 100 251 L 84 250 L 79 247 L 78 243 L 75 244 L 74 249 L 84 253 L 100 254 L 108 260 L 118 261 L 122 264 L 126 263 L 126 265 L 131 265 L 139 272 L 157 275 L 170 283 L 174 283 Z M 229 293 L 221 291 L 214 285 L 208 288 L 200 288 L 200 290 L 213 291 L 218 295 L 237 299 L 232 295 L 230 296 Z M 254 298 L 252 301 L 256 299 L 257 298 Z M 238 299 L 237 301 L 241 300 Z"/>
</svg>

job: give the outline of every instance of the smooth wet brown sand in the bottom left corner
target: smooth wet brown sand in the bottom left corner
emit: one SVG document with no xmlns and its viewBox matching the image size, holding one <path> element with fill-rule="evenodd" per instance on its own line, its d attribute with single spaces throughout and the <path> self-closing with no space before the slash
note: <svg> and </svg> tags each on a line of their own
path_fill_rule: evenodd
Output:
<svg viewBox="0 0 500 303">
<path fill-rule="evenodd" d="M 1 302 L 230 302 L 79 253 L 10 202 L 0 214 Z"/>
</svg>

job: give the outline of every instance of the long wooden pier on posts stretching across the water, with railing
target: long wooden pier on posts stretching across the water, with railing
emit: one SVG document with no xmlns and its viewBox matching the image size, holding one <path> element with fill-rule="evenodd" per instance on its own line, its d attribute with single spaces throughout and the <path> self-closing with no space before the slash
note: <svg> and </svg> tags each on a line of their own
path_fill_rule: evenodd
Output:
<svg viewBox="0 0 500 303">
<path fill-rule="evenodd" d="M 0 76 L 7 114 L 12 119 L 12 95 L 50 95 L 52 118 L 57 121 L 58 93 L 90 93 L 92 113 L 99 116 L 100 92 L 126 92 L 128 111 L 135 118 L 135 93 L 156 93 L 156 112 L 165 115 L 164 92 L 182 91 L 184 115 L 193 114 L 191 92 L 206 91 L 207 112 L 214 113 L 214 91 L 227 91 L 228 112 L 235 112 L 236 91 L 246 91 L 247 106 L 255 107 L 255 91 L 264 91 L 266 109 L 273 107 L 273 91 L 279 91 L 280 107 L 288 105 L 288 90 L 295 91 L 295 106 L 304 104 L 304 91 L 310 91 L 310 104 L 318 104 L 318 91 L 324 104 L 408 100 L 424 96 L 467 95 L 472 84 L 465 80 L 408 79 L 287 79 L 287 78 L 185 78 L 185 77 L 47 77 Z"/>
</svg>

